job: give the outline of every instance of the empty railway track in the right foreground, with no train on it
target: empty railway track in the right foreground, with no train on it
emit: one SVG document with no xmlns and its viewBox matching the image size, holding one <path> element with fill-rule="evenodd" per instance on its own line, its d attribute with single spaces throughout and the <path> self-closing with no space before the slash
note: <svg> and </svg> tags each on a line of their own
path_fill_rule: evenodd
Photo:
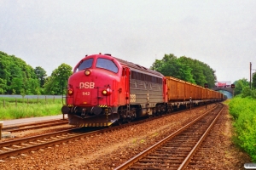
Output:
<svg viewBox="0 0 256 170">
<path fill-rule="evenodd" d="M 184 169 L 200 147 L 203 139 L 218 119 L 224 105 L 218 104 L 211 111 L 178 129 L 137 156 L 132 157 L 119 169 Z"/>
</svg>

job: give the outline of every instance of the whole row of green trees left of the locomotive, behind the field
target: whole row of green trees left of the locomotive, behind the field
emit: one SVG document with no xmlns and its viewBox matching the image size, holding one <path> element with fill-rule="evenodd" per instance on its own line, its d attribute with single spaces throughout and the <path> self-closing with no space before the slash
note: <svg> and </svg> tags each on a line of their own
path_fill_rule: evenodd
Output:
<svg viewBox="0 0 256 170">
<path fill-rule="evenodd" d="M 62 94 L 72 67 L 60 65 L 51 77 L 40 66 L 35 69 L 15 55 L 0 51 L 0 94 Z"/>
</svg>

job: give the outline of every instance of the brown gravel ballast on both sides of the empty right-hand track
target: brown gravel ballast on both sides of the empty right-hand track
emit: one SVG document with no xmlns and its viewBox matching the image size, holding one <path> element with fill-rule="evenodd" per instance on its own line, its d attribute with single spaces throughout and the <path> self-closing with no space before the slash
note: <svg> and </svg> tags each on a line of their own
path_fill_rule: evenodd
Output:
<svg viewBox="0 0 256 170">
<path fill-rule="evenodd" d="M 208 105 L 207 109 L 211 107 L 213 105 Z M 204 108 L 184 111 L 152 122 L 7 158 L 0 162 L 0 169 L 113 169 L 204 111 Z M 208 157 L 201 160 L 201 167 L 193 168 L 242 169 L 245 162 L 250 162 L 249 157 L 230 142 L 233 132 L 231 121 L 226 108 L 221 122 L 218 122 L 214 133 L 211 133 L 214 138 L 209 138 L 212 144 L 211 152 L 203 153 Z M 29 134 L 26 133 L 25 136 L 27 135 Z"/>
</svg>

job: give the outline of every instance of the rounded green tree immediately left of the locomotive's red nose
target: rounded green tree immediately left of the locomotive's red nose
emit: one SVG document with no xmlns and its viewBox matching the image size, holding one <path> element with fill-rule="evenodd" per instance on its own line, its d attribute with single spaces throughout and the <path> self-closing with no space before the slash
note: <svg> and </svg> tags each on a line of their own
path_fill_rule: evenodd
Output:
<svg viewBox="0 0 256 170">
<path fill-rule="evenodd" d="M 72 66 L 61 64 L 51 73 L 44 84 L 45 94 L 62 94 L 63 88 L 67 87 L 68 77 L 72 75 Z"/>
</svg>

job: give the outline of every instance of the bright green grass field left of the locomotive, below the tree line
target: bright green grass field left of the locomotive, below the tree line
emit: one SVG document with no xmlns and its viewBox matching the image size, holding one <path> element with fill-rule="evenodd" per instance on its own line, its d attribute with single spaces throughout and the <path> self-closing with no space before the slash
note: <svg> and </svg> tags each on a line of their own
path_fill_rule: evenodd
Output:
<svg viewBox="0 0 256 170">
<path fill-rule="evenodd" d="M 0 120 L 61 114 L 62 99 L 0 98 Z"/>
</svg>

